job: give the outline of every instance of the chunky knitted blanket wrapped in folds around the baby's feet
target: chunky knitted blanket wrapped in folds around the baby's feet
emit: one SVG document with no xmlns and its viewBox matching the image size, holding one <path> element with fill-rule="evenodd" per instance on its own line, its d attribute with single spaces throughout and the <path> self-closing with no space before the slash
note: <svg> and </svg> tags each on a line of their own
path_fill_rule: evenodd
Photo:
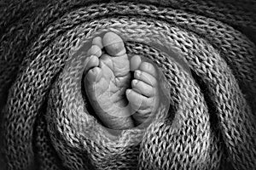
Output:
<svg viewBox="0 0 256 170">
<path fill-rule="evenodd" d="M 253 0 L 12 1 L 0 15 L 3 169 L 256 169 L 255 11 Z M 168 115 L 119 140 L 99 133 L 72 53 L 105 31 L 170 88 Z"/>
</svg>

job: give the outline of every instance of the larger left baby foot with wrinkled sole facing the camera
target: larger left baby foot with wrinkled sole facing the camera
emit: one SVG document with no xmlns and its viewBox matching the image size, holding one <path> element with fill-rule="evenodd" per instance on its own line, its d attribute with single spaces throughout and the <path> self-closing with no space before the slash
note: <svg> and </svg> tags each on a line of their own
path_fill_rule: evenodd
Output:
<svg viewBox="0 0 256 170">
<path fill-rule="evenodd" d="M 121 37 L 108 32 L 103 38 L 94 38 L 87 57 L 84 86 L 96 115 L 112 129 L 134 127 L 129 107 L 125 107 L 128 105 L 125 90 L 131 82 L 131 73 Z"/>
</svg>

